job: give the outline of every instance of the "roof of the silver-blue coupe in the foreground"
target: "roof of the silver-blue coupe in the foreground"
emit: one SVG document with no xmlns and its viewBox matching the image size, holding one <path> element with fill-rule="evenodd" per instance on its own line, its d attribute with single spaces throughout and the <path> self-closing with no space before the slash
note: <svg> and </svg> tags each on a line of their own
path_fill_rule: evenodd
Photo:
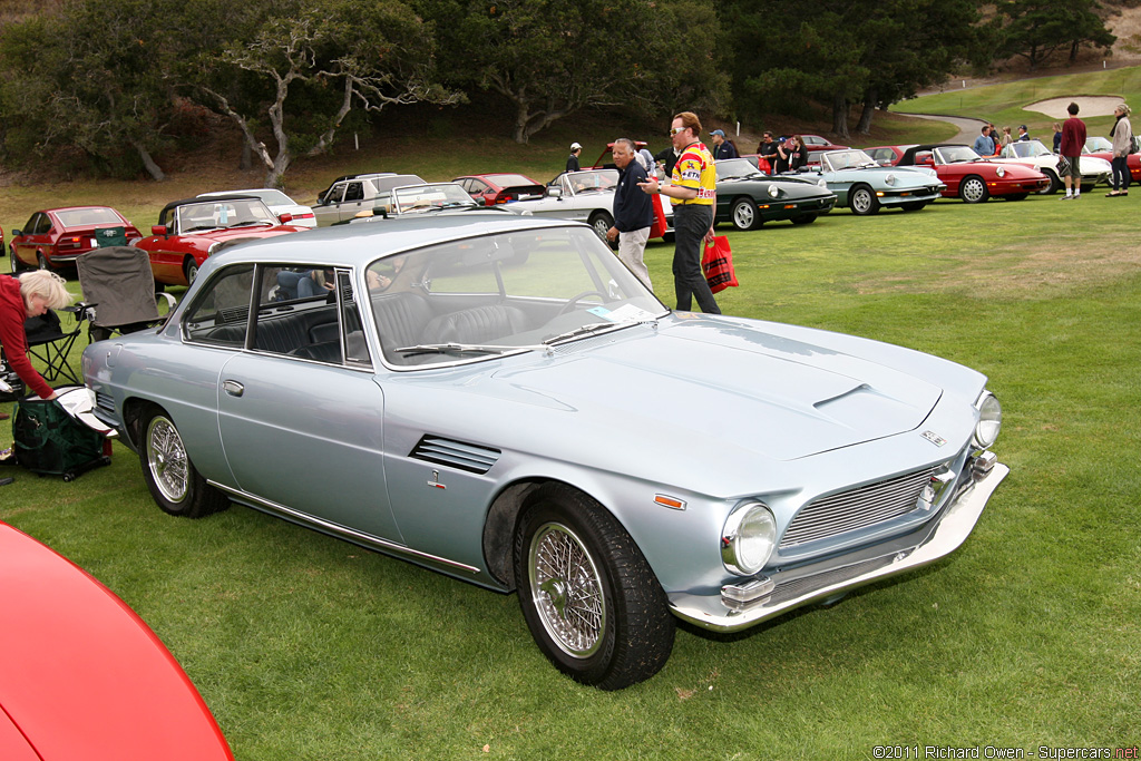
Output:
<svg viewBox="0 0 1141 761">
<path fill-rule="evenodd" d="M 291 235 L 250 241 L 207 259 L 205 267 L 241 261 L 364 266 L 375 259 L 427 245 L 479 235 L 515 230 L 586 228 L 582 222 L 503 212 L 468 211 L 463 214 L 396 217 L 375 225 L 317 227 Z"/>
</svg>

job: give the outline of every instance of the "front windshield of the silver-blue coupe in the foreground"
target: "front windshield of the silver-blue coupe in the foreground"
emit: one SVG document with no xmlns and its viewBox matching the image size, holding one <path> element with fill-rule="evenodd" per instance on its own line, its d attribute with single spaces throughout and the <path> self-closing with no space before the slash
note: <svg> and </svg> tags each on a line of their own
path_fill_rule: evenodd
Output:
<svg viewBox="0 0 1141 761">
<path fill-rule="evenodd" d="M 389 365 L 549 350 L 667 310 L 588 227 L 468 237 L 365 272 Z"/>
</svg>

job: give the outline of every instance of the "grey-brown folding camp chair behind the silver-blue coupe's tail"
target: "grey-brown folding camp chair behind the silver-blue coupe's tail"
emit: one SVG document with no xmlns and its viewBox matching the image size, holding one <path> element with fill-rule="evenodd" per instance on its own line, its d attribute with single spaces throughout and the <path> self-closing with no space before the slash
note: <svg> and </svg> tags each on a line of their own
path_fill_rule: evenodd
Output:
<svg viewBox="0 0 1141 761">
<path fill-rule="evenodd" d="M 78 305 L 89 321 L 88 339 L 102 341 L 114 333 L 131 333 L 162 321 L 155 302 L 151 258 L 143 249 L 113 245 L 92 249 L 75 260 L 83 301 Z M 159 293 L 170 308 L 175 298 Z"/>
</svg>

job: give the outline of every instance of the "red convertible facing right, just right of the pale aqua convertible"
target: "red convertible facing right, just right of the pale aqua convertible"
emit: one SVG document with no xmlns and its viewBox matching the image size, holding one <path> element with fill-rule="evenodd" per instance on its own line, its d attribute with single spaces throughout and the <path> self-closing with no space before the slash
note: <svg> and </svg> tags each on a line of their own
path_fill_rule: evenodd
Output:
<svg viewBox="0 0 1141 761">
<path fill-rule="evenodd" d="M 982 203 L 990 196 L 1021 201 L 1050 187 L 1050 178 L 1029 167 L 988 161 L 966 145 L 892 145 L 865 148 L 882 165 L 934 167 L 946 199 Z"/>
</svg>

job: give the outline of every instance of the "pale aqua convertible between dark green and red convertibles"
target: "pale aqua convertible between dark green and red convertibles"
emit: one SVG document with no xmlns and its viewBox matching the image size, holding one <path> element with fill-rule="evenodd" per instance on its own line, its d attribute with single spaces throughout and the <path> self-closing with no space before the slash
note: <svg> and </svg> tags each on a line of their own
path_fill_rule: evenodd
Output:
<svg viewBox="0 0 1141 761">
<path fill-rule="evenodd" d="M 874 214 L 883 207 L 919 211 L 939 197 L 946 185 L 925 167 L 881 167 L 863 151 L 822 151 L 814 154 L 819 184 L 836 194 L 836 205 L 853 214 Z M 811 172 L 810 172 L 811 175 Z"/>
</svg>

